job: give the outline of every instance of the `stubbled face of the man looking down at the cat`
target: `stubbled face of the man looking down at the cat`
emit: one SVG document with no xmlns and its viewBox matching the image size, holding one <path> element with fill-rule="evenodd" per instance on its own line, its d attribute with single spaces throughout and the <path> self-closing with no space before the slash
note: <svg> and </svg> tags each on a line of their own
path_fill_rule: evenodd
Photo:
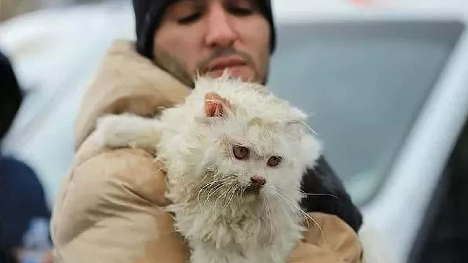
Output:
<svg viewBox="0 0 468 263">
<path fill-rule="evenodd" d="M 270 25 L 256 0 L 178 0 L 154 35 L 158 66 L 189 86 L 197 75 L 227 70 L 263 83 L 270 61 Z"/>
</svg>

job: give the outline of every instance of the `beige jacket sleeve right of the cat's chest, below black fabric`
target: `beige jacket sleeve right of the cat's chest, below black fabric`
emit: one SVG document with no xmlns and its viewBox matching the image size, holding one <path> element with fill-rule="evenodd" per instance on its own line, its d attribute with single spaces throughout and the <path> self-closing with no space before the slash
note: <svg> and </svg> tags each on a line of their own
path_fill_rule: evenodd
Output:
<svg viewBox="0 0 468 263">
<path fill-rule="evenodd" d="M 289 256 L 288 263 L 362 263 L 358 235 L 342 219 L 321 212 L 309 213 L 303 239 Z M 318 227 L 320 226 L 320 228 Z"/>
</svg>

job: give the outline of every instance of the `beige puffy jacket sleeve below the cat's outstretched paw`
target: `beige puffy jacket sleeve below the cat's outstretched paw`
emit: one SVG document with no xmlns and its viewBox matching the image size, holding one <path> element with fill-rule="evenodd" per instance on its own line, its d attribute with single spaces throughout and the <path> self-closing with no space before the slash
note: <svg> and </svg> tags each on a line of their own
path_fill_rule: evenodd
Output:
<svg viewBox="0 0 468 263">
<path fill-rule="evenodd" d="M 56 263 L 183 263 L 162 206 L 165 175 L 138 149 L 99 153 L 70 171 L 51 224 Z"/>
</svg>

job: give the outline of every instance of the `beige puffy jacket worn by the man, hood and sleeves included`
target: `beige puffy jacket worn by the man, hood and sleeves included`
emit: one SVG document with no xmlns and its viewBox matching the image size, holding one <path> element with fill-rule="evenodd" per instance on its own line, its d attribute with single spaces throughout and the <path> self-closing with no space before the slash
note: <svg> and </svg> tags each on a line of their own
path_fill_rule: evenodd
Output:
<svg viewBox="0 0 468 263">
<path fill-rule="evenodd" d="M 183 102 L 190 89 L 117 41 L 83 98 L 76 154 L 54 205 L 51 234 L 56 263 L 183 263 L 189 250 L 164 212 L 165 174 L 141 149 L 102 149 L 93 133 L 105 113 L 151 116 Z M 311 213 L 310 226 L 290 263 L 358 263 L 356 233 L 334 215 Z"/>
</svg>

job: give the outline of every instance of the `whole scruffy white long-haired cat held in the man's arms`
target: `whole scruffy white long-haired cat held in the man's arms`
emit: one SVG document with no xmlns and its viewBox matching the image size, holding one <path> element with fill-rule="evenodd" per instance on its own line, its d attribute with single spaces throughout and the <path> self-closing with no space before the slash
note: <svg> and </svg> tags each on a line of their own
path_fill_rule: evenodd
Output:
<svg viewBox="0 0 468 263">
<path fill-rule="evenodd" d="M 157 118 L 106 116 L 97 131 L 163 161 L 191 263 L 283 263 L 303 231 L 302 175 L 320 155 L 305 121 L 263 86 L 223 76 L 199 78 Z"/>
</svg>

